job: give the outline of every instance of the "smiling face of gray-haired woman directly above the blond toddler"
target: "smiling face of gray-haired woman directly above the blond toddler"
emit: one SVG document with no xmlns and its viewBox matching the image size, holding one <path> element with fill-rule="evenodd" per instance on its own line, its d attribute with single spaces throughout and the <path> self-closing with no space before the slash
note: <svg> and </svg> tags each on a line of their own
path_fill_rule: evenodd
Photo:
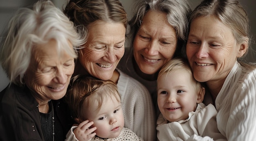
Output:
<svg viewBox="0 0 256 141">
<path fill-rule="evenodd" d="M 166 22 L 166 14 L 149 10 L 133 42 L 134 58 L 141 72 L 157 73 L 173 58 L 176 46 L 175 29 Z"/>
</svg>

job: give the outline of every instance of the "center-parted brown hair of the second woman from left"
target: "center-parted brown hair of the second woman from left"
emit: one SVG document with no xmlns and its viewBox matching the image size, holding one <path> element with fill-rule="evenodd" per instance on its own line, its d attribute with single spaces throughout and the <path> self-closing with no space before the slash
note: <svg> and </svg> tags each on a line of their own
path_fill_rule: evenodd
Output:
<svg viewBox="0 0 256 141">
<path fill-rule="evenodd" d="M 125 28 L 128 24 L 127 13 L 119 0 L 70 0 L 63 11 L 85 40 L 90 24 L 97 20 L 122 23 Z"/>
</svg>

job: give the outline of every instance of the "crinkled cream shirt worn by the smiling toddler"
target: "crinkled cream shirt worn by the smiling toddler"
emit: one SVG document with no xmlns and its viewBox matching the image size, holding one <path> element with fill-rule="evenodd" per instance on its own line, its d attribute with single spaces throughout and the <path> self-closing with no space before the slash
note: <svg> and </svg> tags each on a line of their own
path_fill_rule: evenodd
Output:
<svg viewBox="0 0 256 141">
<path fill-rule="evenodd" d="M 157 139 L 159 141 L 195 140 L 194 134 L 202 136 L 200 141 L 226 141 L 218 131 L 216 123 L 217 111 L 212 104 L 198 104 L 195 112 L 189 113 L 189 118 L 177 122 L 168 122 L 162 114 L 157 119 Z M 206 136 L 206 137 L 205 137 Z M 208 137 L 209 136 L 209 137 Z"/>
</svg>

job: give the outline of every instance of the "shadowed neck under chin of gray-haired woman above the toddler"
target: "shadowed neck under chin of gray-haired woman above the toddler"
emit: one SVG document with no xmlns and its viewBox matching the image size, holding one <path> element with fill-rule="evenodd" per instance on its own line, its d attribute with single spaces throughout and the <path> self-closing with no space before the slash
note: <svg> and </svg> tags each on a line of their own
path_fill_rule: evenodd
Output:
<svg viewBox="0 0 256 141">
<path fill-rule="evenodd" d="M 158 76 L 158 72 L 159 71 L 157 71 L 154 74 L 145 74 L 144 72 L 141 72 L 141 70 L 139 69 L 139 66 L 137 65 L 137 63 L 136 63 L 134 58 L 132 59 L 132 64 L 133 64 L 133 67 L 135 69 L 136 74 L 138 74 L 138 76 L 140 76 L 144 80 L 148 80 L 148 81 L 157 80 L 157 76 Z"/>
</svg>

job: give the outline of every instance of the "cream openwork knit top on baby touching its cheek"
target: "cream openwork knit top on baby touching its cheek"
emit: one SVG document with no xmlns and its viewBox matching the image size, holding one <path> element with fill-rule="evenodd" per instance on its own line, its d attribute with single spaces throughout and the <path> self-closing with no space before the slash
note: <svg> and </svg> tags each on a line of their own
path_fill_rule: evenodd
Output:
<svg viewBox="0 0 256 141">
<path fill-rule="evenodd" d="M 72 126 L 72 128 L 70 128 L 69 132 L 66 135 L 65 141 L 79 141 L 78 139 L 76 139 L 75 134 L 73 132 L 73 130 L 76 127 L 77 126 Z M 116 138 L 102 139 L 100 137 L 94 136 L 92 139 L 90 139 L 90 141 L 143 141 L 143 140 L 139 139 L 139 137 L 134 132 L 132 132 L 132 130 L 128 128 L 123 128 L 119 136 Z"/>
</svg>

